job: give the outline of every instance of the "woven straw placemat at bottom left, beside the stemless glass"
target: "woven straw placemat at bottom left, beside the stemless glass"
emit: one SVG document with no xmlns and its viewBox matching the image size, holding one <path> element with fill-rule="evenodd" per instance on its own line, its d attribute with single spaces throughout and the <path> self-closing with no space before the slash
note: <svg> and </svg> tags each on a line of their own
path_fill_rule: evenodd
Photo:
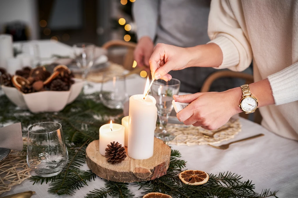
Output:
<svg viewBox="0 0 298 198">
<path fill-rule="evenodd" d="M 27 144 L 27 138 L 23 138 L 23 142 Z M 26 153 L 11 150 L 7 158 L 0 162 L 0 195 L 31 177 L 30 171 Z"/>
</svg>

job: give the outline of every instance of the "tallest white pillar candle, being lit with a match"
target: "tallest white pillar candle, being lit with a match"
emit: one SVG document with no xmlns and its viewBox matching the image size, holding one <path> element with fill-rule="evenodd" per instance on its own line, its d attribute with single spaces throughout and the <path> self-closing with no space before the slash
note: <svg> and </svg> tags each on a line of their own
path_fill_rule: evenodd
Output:
<svg viewBox="0 0 298 198">
<path fill-rule="evenodd" d="M 150 95 L 145 100 L 143 98 L 143 94 L 129 98 L 127 149 L 128 156 L 134 159 L 148 159 L 153 155 L 156 100 Z"/>
</svg>

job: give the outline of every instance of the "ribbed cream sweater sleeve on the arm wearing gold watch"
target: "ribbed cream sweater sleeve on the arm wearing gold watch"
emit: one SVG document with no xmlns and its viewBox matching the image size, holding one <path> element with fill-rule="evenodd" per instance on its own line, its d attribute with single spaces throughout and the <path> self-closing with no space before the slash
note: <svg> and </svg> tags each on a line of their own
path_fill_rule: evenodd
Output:
<svg viewBox="0 0 298 198">
<path fill-rule="evenodd" d="M 298 62 L 268 76 L 275 105 L 298 100 Z"/>
</svg>

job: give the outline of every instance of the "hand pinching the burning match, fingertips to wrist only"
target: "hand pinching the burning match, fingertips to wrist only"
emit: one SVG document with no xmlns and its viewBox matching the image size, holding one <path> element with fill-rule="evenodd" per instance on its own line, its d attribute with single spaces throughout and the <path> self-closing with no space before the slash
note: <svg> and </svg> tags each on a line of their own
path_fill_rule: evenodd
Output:
<svg viewBox="0 0 298 198">
<path fill-rule="evenodd" d="M 190 58 L 187 48 L 158 43 L 149 59 L 151 75 L 169 81 L 172 76 L 168 72 L 186 68 Z"/>
</svg>

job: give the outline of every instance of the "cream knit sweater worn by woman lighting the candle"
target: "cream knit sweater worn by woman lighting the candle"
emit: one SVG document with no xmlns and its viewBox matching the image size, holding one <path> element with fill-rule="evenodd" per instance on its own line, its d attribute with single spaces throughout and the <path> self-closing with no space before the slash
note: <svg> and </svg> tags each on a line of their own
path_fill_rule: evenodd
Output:
<svg viewBox="0 0 298 198">
<path fill-rule="evenodd" d="M 219 68 L 242 71 L 253 58 L 254 81 L 268 78 L 275 101 L 260 108 L 262 125 L 298 140 L 298 1 L 212 0 L 208 34 Z"/>
</svg>

